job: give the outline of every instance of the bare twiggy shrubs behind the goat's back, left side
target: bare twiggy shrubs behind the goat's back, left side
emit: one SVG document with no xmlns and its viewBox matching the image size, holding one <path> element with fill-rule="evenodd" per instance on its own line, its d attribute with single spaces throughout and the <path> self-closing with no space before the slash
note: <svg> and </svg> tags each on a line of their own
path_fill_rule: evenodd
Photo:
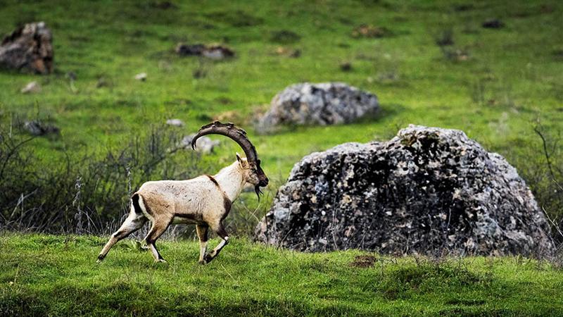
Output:
<svg viewBox="0 0 563 317">
<path fill-rule="evenodd" d="M 201 172 L 198 154 L 179 151 L 165 126 L 101 156 L 45 163 L 28 137 L 0 130 L 0 225 L 9 230 L 107 233 L 127 213 L 132 190 L 147 180 Z M 187 163 L 186 163 L 187 162 Z"/>
</svg>

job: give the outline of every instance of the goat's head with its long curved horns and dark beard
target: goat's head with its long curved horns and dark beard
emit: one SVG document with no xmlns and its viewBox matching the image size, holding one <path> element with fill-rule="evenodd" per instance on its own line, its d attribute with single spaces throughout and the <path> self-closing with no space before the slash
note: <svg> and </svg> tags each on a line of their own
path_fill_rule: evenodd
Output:
<svg viewBox="0 0 563 317">
<path fill-rule="evenodd" d="M 196 136 L 191 139 L 191 147 L 193 149 L 196 148 L 196 140 L 199 137 L 211 134 L 224 135 L 233 139 L 234 142 L 241 146 L 244 154 L 246 154 L 246 159 L 241 159 L 238 154 L 236 155 L 236 159 L 243 167 L 243 178 L 246 182 L 254 185 L 254 191 L 256 195 L 258 195 L 258 199 L 260 199 L 260 194 L 262 194 L 260 187 L 268 185 L 268 178 L 264 170 L 260 167 L 260 160 L 258 159 L 256 148 L 248 137 L 246 137 L 246 131 L 241 128 L 236 128 L 233 123 L 220 123 L 219 121 L 215 121 L 214 123 L 203 125 L 203 127 L 199 129 Z"/>
</svg>

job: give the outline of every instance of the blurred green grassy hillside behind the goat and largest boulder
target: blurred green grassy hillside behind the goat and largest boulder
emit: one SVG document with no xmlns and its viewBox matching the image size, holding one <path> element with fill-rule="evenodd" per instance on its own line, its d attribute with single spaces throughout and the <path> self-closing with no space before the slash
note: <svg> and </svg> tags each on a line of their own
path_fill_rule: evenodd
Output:
<svg viewBox="0 0 563 317">
<path fill-rule="evenodd" d="M 311 151 L 387 139 L 409 123 L 462 129 L 507 156 L 540 149 L 532 130 L 536 118 L 552 130 L 562 128 L 563 63 L 554 53 L 563 49 L 559 1 L 482 1 L 467 11 L 456 11 L 458 1 L 191 1 L 168 10 L 139 1 L 3 3 L 0 32 L 30 20 L 44 20 L 53 30 L 55 75 L 0 73 L 3 123 L 13 115 L 40 116 L 61 127 L 61 138 L 34 141 L 46 161 L 63 149 L 119 147 L 167 118 L 185 120 L 186 133 L 224 111 L 248 118 L 255 106 L 305 80 L 367 89 L 384 111 L 376 120 L 260 137 L 244 123 L 265 170 L 281 180 Z M 484 29 L 487 18 L 501 18 L 507 27 Z M 386 27 L 392 36 L 351 37 L 362 23 Z M 468 61 L 446 60 L 435 44 L 448 29 Z M 272 42 L 281 30 L 301 39 Z M 236 58 L 181 58 L 173 53 L 177 42 L 227 42 Z M 302 54 L 277 56 L 278 46 Z M 343 61 L 353 70 L 341 71 Z M 199 68 L 206 76 L 195 79 Z M 76 93 L 65 77 L 70 71 L 77 75 Z M 133 79 L 140 72 L 148 73 L 146 82 Z M 96 88 L 101 77 L 109 87 Z M 39 80 L 43 92 L 20 94 L 30 80 Z M 234 159 L 236 147 L 228 149 L 217 155 Z"/>
</svg>

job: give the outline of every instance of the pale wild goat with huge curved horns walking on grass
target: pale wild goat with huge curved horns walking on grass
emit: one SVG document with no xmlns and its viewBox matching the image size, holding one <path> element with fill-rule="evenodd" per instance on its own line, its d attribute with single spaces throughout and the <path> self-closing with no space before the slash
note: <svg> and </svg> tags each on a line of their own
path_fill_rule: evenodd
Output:
<svg viewBox="0 0 563 317">
<path fill-rule="evenodd" d="M 209 263 L 229 243 L 229 235 L 224 230 L 222 220 L 231 210 L 232 202 L 239 197 L 243 187 L 254 185 L 260 199 L 260 187 L 268 185 L 256 149 L 246 137 L 246 132 L 232 123 L 215 121 L 204 125 L 191 140 L 191 147 L 196 148 L 196 140 L 203 135 L 224 135 L 238 143 L 246 154 L 241 159 L 236 154 L 236 161 L 220 170 L 216 175 L 201 175 L 191 180 L 159 180 L 145 182 L 131 198 L 131 210 L 125 222 L 103 247 L 98 262 L 106 257 L 113 245 L 141 228 L 151 220 L 151 230 L 144 242 L 150 249 L 155 261 L 165 262 L 155 242 L 171 224 L 195 224 L 200 242 L 199 263 Z M 222 238 L 222 241 L 208 254 L 209 228 Z"/>
</svg>

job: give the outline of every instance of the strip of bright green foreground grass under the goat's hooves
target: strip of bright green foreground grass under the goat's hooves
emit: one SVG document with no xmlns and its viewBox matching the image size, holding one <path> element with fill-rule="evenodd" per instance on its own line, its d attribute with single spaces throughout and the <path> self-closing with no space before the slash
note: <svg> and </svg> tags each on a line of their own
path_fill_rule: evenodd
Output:
<svg viewBox="0 0 563 317">
<path fill-rule="evenodd" d="M 0 315 L 563 314 L 561 268 L 520 257 L 303 254 L 236 239 L 215 261 L 199 266 L 197 242 L 161 242 L 168 263 L 156 264 L 125 240 L 96 264 L 105 242 L 0 235 Z"/>
</svg>

